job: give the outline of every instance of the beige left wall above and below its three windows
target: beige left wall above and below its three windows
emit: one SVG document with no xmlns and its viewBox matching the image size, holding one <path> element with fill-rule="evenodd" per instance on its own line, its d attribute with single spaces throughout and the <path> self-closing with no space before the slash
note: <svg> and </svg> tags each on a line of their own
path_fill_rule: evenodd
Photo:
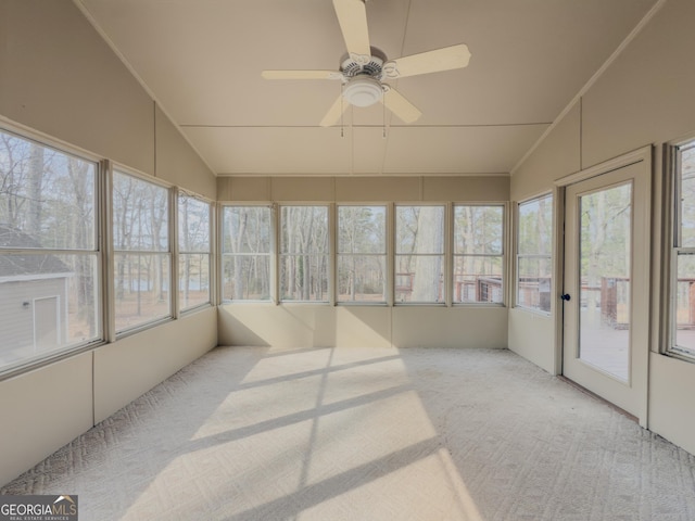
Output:
<svg viewBox="0 0 695 521">
<path fill-rule="evenodd" d="M 0 2 L 0 118 L 210 199 L 214 175 L 71 0 Z M 0 381 L 0 484 L 214 347 L 216 310 Z"/>
</svg>

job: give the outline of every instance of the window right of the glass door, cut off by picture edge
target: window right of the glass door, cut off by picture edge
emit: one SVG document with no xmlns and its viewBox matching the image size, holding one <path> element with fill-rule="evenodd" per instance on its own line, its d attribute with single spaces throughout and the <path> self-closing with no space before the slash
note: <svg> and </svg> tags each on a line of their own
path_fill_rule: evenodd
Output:
<svg viewBox="0 0 695 521">
<path fill-rule="evenodd" d="M 671 352 L 695 357 L 695 140 L 674 148 Z"/>
</svg>

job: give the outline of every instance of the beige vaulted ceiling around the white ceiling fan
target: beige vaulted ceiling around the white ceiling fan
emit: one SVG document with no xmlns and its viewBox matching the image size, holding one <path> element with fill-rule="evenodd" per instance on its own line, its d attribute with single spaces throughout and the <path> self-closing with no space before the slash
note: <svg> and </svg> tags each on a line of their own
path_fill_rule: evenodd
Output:
<svg viewBox="0 0 695 521">
<path fill-rule="evenodd" d="M 320 127 L 340 81 L 261 72 L 340 67 L 331 0 L 75 0 L 217 175 L 508 173 L 655 1 L 368 0 L 390 59 L 472 58 L 392 82 L 415 123 L 377 103 Z"/>
</svg>

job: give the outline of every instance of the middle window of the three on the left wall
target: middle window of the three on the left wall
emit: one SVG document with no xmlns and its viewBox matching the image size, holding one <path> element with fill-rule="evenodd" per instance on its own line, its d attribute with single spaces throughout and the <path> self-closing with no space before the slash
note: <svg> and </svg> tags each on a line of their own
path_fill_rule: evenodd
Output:
<svg viewBox="0 0 695 521">
<path fill-rule="evenodd" d="M 114 171 L 115 329 L 172 316 L 168 190 Z"/>
</svg>

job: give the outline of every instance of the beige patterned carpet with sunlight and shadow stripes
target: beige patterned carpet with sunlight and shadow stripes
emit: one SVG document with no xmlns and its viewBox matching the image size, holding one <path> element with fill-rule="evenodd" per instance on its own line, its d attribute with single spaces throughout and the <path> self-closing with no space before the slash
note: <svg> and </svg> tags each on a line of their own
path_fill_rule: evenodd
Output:
<svg viewBox="0 0 695 521">
<path fill-rule="evenodd" d="M 220 347 L 0 490 L 80 520 L 695 520 L 695 457 L 507 351 Z"/>
</svg>

